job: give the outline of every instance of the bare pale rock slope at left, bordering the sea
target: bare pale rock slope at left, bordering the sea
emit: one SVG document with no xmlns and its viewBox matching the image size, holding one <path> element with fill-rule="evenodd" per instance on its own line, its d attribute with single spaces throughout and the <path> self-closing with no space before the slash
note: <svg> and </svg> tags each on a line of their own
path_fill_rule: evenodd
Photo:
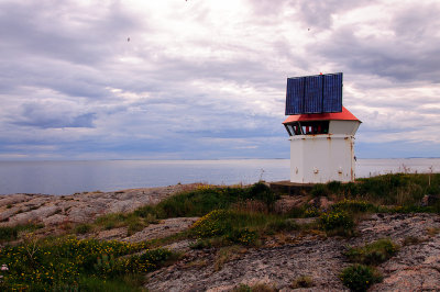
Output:
<svg viewBox="0 0 440 292">
<path fill-rule="evenodd" d="M 169 195 L 191 190 L 197 186 L 199 184 L 176 184 L 72 195 L 26 193 L 0 195 L 0 224 L 4 226 L 42 222 L 45 226 L 56 226 L 85 223 L 107 213 L 131 212 L 145 204 L 155 204 Z"/>
</svg>

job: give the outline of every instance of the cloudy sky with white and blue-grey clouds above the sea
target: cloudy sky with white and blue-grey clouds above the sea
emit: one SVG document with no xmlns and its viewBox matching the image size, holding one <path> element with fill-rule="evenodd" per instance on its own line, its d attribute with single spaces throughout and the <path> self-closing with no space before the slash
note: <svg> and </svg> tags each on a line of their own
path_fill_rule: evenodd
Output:
<svg viewBox="0 0 440 292">
<path fill-rule="evenodd" d="M 338 71 L 358 157 L 438 157 L 439 15 L 425 0 L 0 0 L 0 160 L 288 158 L 286 78 Z"/>
</svg>

